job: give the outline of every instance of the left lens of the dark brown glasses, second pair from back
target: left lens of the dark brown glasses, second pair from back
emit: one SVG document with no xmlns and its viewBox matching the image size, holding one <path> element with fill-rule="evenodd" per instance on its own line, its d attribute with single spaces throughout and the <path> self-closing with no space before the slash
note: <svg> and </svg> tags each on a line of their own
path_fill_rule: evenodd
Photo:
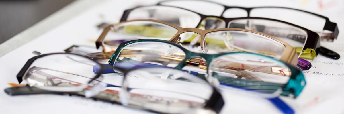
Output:
<svg viewBox="0 0 344 114">
<path fill-rule="evenodd" d="M 127 20 L 134 19 L 153 19 L 169 22 L 184 28 L 195 28 L 201 20 L 201 16 L 194 12 L 175 7 L 149 6 L 132 10 Z"/>
</svg>

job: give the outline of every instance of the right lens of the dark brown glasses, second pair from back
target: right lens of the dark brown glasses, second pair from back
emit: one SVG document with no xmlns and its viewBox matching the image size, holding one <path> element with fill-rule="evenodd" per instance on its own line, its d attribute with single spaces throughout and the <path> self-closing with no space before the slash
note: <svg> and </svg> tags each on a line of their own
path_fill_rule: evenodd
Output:
<svg viewBox="0 0 344 114">
<path fill-rule="evenodd" d="M 243 28 L 259 31 L 279 38 L 292 47 L 303 49 L 308 35 L 305 30 L 285 23 L 262 19 L 239 19 L 228 24 L 228 28 Z M 301 53 L 300 53 L 301 55 Z"/>
</svg>

